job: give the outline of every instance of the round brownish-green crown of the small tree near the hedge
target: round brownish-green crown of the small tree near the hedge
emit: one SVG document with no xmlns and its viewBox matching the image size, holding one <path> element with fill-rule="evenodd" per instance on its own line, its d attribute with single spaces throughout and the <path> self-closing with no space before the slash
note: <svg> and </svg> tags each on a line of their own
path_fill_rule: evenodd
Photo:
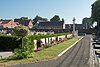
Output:
<svg viewBox="0 0 100 67">
<path fill-rule="evenodd" d="M 24 36 L 27 36 L 28 32 L 29 32 L 29 29 L 26 26 L 22 26 L 22 25 L 19 25 L 15 27 L 14 29 L 14 35 L 21 37 L 21 38 Z"/>
</svg>

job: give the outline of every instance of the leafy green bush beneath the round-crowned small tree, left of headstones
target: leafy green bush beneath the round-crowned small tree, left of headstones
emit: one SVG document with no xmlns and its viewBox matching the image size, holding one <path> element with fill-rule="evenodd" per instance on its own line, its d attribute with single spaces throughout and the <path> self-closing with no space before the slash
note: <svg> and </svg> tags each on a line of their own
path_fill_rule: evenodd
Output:
<svg viewBox="0 0 100 67">
<path fill-rule="evenodd" d="M 23 58 L 32 57 L 33 45 L 31 44 L 31 41 L 27 37 L 24 37 L 22 40 L 22 43 L 23 44 L 22 44 L 21 49 L 17 48 L 14 50 L 15 59 L 23 59 Z"/>
</svg>

